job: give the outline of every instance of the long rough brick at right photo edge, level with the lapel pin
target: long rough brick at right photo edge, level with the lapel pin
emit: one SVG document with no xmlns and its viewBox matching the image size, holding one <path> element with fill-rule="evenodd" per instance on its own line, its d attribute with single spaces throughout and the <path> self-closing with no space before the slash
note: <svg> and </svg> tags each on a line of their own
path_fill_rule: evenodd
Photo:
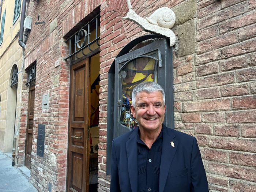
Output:
<svg viewBox="0 0 256 192">
<path fill-rule="evenodd" d="M 219 149 L 256 152 L 255 141 L 250 139 L 228 139 L 214 137 L 209 139 L 209 146 Z"/>
</svg>

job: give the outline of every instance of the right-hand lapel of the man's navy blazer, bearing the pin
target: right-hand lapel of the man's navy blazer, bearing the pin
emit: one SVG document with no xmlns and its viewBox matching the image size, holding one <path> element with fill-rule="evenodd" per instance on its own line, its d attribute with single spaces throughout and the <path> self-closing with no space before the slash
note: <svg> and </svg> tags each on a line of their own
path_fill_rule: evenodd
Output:
<svg viewBox="0 0 256 192">
<path fill-rule="evenodd" d="M 169 173 L 170 165 L 178 147 L 178 141 L 175 140 L 175 135 L 168 131 L 169 128 L 163 125 L 163 144 L 159 175 L 159 192 L 163 192 L 165 188 L 166 179 Z M 170 142 L 174 143 L 174 147 Z"/>
</svg>

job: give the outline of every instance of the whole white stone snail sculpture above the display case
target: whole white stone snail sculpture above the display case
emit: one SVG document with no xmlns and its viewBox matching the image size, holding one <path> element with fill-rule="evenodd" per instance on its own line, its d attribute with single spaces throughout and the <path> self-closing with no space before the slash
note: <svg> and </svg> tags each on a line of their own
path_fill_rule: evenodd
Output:
<svg viewBox="0 0 256 192">
<path fill-rule="evenodd" d="M 168 7 L 161 7 L 154 11 L 146 19 L 140 17 L 132 9 L 131 1 L 127 0 L 129 11 L 123 19 L 131 20 L 137 23 L 144 31 L 160 34 L 170 38 L 170 46 L 173 46 L 176 40 L 175 34 L 170 30 L 176 20 L 174 12 Z"/>
</svg>

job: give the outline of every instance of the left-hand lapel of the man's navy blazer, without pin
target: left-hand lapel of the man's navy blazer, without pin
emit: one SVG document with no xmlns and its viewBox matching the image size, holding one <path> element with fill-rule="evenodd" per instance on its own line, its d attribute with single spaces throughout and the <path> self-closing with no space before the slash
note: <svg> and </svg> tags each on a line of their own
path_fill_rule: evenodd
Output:
<svg viewBox="0 0 256 192">
<path fill-rule="evenodd" d="M 126 142 L 128 173 L 132 192 L 138 191 L 138 130 L 139 128 L 136 128 L 129 136 L 130 140 Z"/>
</svg>

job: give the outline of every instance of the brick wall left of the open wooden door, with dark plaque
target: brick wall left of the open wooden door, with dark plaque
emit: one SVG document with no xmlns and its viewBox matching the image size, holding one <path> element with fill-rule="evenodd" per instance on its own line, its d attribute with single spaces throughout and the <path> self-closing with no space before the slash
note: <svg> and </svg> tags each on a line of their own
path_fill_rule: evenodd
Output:
<svg viewBox="0 0 256 192">
<path fill-rule="evenodd" d="M 28 1 L 27 15 L 33 18 L 25 50 L 25 68 L 37 61 L 33 142 L 30 181 L 38 191 L 65 191 L 67 179 L 68 112 L 69 112 L 69 63 L 68 46 L 64 35 L 81 19 L 99 6 L 99 1 L 57 0 Z M 39 18 L 39 19 L 38 19 Z M 35 25 L 35 22 L 45 24 Z M 54 62 L 59 60 L 59 66 Z M 18 166 L 24 165 L 25 130 L 29 88 L 25 86 L 24 74 L 20 138 L 18 143 Z M 49 93 L 49 109 L 42 109 L 42 96 Z M 44 158 L 37 153 L 38 124 L 45 124 Z"/>
</svg>

